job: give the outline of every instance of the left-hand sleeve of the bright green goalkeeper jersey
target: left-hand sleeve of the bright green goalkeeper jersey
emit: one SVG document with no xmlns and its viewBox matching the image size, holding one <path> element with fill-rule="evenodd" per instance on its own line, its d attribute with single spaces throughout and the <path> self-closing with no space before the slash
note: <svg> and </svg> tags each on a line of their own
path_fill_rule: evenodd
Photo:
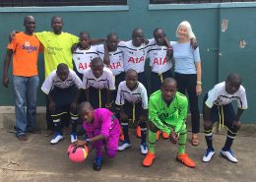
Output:
<svg viewBox="0 0 256 182">
<path fill-rule="evenodd" d="M 158 109 L 160 109 L 160 108 L 158 108 L 158 105 L 156 105 L 156 101 L 153 100 L 152 97 L 150 97 L 149 119 L 162 132 L 165 132 L 169 135 L 171 132 L 171 129 L 167 125 L 165 125 L 161 122 L 160 117 L 158 115 L 158 112 L 159 112 Z"/>
</svg>

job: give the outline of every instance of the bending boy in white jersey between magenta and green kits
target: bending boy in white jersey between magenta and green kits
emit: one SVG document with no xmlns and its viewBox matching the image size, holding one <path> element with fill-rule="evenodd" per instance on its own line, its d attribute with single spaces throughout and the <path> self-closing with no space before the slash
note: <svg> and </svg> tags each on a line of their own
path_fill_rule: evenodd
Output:
<svg viewBox="0 0 256 182">
<path fill-rule="evenodd" d="M 141 152 L 148 153 L 146 144 L 148 94 L 145 87 L 138 82 L 138 74 L 135 70 L 127 70 L 125 81 L 118 86 L 115 103 L 120 106 L 120 121 L 124 134 L 124 142 L 118 147 L 118 151 L 131 147 L 128 120 L 132 119 L 141 127 Z"/>
</svg>

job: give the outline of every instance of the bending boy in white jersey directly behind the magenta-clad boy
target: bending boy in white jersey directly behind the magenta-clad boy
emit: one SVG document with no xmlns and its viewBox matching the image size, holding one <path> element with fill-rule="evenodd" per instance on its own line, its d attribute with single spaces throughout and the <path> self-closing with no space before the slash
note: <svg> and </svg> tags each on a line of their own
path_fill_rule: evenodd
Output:
<svg viewBox="0 0 256 182">
<path fill-rule="evenodd" d="M 112 72 L 104 68 L 103 61 L 96 57 L 92 60 L 91 69 L 84 73 L 83 89 L 86 99 L 96 108 L 110 107 L 111 91 L 115 90 Z"/>
</svg>

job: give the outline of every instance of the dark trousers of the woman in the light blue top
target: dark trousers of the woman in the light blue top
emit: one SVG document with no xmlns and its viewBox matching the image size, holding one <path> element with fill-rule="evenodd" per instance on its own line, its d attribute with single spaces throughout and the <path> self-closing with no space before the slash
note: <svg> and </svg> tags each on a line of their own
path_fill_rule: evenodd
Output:
<svg viewBox="0 0 256 182">
<path fill-rule="evenodd" d="M 197 75 L 196 74 L 179 74 L 175 73 L 178 91 L 188 94 L 189 108 L 191 112 L 192 133 L 199 133 L 200 128 L 200 112 L 198 107 L 198 96 L 196 92 Z"/>
</svg>

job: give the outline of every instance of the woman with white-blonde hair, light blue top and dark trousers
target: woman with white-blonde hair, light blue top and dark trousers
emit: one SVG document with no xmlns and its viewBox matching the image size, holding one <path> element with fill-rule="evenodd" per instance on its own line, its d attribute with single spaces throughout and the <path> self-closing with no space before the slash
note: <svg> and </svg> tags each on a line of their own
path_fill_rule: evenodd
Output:
<svg viewBox="0 0 256 182">
<path fill-rule="evenodd" d="M 191 39 L 195 38 L 195 34 L 187 21 L 179 24 L 176 36 L 177 41 L 171 42 L 175 63 L 174 78 L 178 84 L 178 91 L 188 94 L 192 122 L 192 145 L 198 146 L 200 127 L 198 95 L 202 92 L 199 48 L 194 49 L 191 46 Z"/>
</svg>

